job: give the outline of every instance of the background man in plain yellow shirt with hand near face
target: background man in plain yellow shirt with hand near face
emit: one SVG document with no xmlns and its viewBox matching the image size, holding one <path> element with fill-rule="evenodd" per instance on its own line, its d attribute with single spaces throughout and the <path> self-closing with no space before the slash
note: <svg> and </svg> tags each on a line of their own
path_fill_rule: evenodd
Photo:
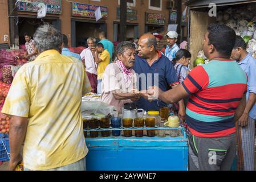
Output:
<svg viewBox="0 0 256 182">
<path fill-rule="evenodd" d="M 100 57 L 99 55 L 100 54 Z M 110 63 L 110 54 L 107 49 L 104 49 L 103 44 L 96 44 L 95 63 L 99 64 L 97 67 L 97 94 L 101 94 L 101 81 L 105 68 Z"/>
</svg>

